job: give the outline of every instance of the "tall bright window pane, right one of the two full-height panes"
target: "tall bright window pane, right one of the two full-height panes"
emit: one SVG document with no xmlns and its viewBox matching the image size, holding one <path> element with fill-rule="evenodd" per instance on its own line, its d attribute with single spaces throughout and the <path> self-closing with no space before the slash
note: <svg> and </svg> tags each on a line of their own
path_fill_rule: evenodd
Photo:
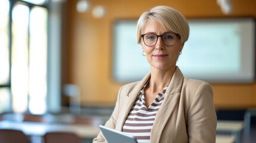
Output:
<svg viewBox="0 0 256 143">
<path fill-rule="evenodd" d="M 29 110 L 43 114 L 47 110 L 47 10 L 33 7 L 29 26 Z"/>
</svg>

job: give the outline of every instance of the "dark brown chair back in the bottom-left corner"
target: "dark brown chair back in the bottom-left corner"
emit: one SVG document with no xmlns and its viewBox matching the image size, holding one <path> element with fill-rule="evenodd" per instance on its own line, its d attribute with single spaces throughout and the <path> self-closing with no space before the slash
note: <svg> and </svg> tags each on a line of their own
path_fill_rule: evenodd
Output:
<svg viewBox="0 0 256 143">
<path fill-rule="evenodd" d="M 0 142 L 4 143 L 27 143 L 27 136 L 20 130 L 0 129 Z"/>
</svg>

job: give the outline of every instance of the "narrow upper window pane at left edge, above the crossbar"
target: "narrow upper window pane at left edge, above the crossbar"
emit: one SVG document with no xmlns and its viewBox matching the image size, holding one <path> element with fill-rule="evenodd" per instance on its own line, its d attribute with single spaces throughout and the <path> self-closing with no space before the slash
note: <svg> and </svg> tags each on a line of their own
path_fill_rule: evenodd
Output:
<svg viewBox="0 0 256 143">
<path fill-rule="evenodd" d="M 9 7 L 8 0 L 0 0 L 0 85 L 7 84 L 10 72 L 8 48 Z"/>
</svg>

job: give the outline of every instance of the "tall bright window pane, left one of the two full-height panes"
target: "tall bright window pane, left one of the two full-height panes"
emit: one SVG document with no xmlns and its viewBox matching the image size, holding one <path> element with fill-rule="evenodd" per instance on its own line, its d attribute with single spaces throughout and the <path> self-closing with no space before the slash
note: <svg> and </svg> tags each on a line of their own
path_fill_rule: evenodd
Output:
<svg viewBox="0 0 256 143">
<path fill-rule="evenodd" d="M 16 4 L 13 8 L 13 45 L 11 61 L 11 92 L 14 112 L 27 110 L 28 94 L 28 24 L 29 7 Z"/>
</svg>

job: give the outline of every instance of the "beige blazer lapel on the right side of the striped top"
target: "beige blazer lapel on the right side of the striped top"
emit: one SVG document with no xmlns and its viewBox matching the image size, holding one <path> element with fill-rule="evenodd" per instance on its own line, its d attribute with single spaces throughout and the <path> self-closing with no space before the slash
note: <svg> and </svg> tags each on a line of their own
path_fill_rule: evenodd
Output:
<svg viewBox="0 0 256 143">
<path fill-rule="evenodd" d="M 161 138 L 162 131 L 165 128 L 166 123 L 168 120 L 172 122 L 174 128 L 171 132 L 168 132 L 170 136 L 175 137 L 175 119 L 169 119 L 171 114 L 174 111 L 174 108 L 180 99 L 180 92 L 183 85 L 183 74 L 181 73 L 180 69 L 176 67 L 174 75 L 172 76 L 171 82 L 168 85 L 168 89 L 165 92 L 165 99 L 162 102 L 161 107 L 156 114 L 156 119 L 153 124 L 150 136 L 150 142 L 159 142 Z M 172 138 L 169 142 L 174 142 L 175 138 Z"/>
</svg>

